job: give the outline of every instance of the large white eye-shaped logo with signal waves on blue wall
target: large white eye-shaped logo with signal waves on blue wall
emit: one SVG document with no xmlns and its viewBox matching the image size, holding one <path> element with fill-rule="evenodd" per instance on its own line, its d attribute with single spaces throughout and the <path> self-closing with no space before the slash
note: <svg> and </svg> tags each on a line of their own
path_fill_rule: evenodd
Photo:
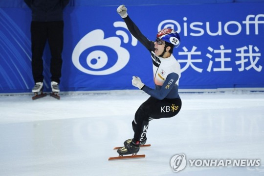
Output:
<svg viewBox="0 0 264 176">
<path fill-rule="evenodd" d="M 127 28 L 124 22 L 115 22 L 114 26 Z M 124 31 L 118 30 L 116 34 L 123 37 L 124 43 L 128 43 L 128 35 Z M 127 65 L 130 53 L 121 47 L 121 39 L 104 36 L 103 30 L 96 29 L 78 42 L 72 52 L 72 63 L 78 70 L 89 75 L 110 75 Z M 136 44 L 137 40 L 132 37 L 132 46 Z M 109 50 L 112 54 L 107 52 Z"/>
</svg>

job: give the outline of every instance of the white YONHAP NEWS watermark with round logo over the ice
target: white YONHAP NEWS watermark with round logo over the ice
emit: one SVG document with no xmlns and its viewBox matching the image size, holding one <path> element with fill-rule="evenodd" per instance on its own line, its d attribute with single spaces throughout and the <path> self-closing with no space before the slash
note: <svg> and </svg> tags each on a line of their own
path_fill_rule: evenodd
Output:
<svg viewBox="0 0 264 176">
<path fill-rule="evenodd" d="M 186 159 L 185 154 L 176 154 L 171 158 L 173 172 L 189 167 L 259 167 L 261 159 Z"/>
</svg>

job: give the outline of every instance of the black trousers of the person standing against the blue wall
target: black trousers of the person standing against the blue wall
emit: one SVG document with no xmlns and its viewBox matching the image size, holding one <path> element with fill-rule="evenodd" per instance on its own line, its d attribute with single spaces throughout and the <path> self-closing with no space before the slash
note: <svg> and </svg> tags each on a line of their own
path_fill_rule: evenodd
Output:
<svg viewBox="0 0 264 176">
<path fill-rule="evenodd" d="M 31 22 L 32 74 L 35 83 L 43 82 L 43 51 L 48 41 L 51 81 L 60 83 L 63 50 L 63 21 Z"/>
</svg>

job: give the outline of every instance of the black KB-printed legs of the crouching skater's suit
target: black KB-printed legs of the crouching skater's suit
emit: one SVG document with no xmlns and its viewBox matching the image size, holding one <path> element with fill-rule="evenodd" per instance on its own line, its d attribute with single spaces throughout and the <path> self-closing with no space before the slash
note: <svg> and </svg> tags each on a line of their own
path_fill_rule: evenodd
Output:
<svg viewBox="0 0 264 176">
<path fill-rule="evenodd" d="M 180 99 L 158 100 L 154 97 L 150 97 L 140 105 L 132 121 L 134 141 L 142 141 L 146 138 L 149 122 L 151 120 L 173 117 L 180 111 L 180 108 Z"/>
</svg>

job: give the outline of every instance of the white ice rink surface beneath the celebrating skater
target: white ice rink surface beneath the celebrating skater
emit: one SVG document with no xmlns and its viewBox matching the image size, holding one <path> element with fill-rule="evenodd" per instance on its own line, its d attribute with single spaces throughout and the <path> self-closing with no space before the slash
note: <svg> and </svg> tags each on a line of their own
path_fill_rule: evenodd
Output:
<svg viewBox="0 0 264 176">
<path fill-rule="evenodd" d="M 141 91 L 0 96 L 0 176 L 264 176 L 264 92 L 181 93 L 182 109 L 149 124 L 145 158 L 108 161 L 132 138 Z M 170 160 L 185 154 L 174 173 Z M 258 167 L 191 167 L 190 159 L 260 159 Z"/>
</svg>

